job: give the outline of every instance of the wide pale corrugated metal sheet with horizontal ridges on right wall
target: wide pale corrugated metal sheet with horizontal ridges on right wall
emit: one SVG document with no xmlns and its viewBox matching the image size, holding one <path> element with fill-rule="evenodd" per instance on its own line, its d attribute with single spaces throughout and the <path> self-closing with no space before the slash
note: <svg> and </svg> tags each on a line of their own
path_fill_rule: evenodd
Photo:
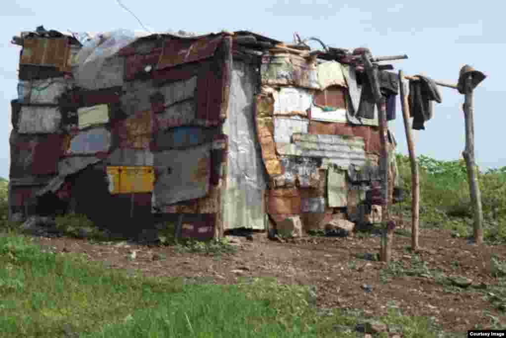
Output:
<svg viewBox="0 0 506 338">
<path fill-rule="evenodd" d="M 331 163 L 348 168 L 350 164 L 363 165 L 365 151 L 362 138 L 342 137 L 339 135 L 296 134 L 294 143 L 276 144 L 276 150 L 282 155 L 325 157 Z"/>
</svg>

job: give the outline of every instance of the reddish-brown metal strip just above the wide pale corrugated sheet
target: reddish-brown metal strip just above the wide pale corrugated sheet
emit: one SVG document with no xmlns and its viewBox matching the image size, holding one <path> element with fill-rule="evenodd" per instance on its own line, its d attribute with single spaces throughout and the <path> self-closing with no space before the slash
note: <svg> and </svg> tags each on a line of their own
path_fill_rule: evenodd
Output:
<svg viewBox="0 0 506 338">
<path fill-rule="evenodd" d="M 372 126 L 351 125 L 345 123 L 323 123 L 312 121 L 308 127 L 309 134 L 315 135 L 343 135 L 364 139 L 365 151 L 380 153 L 381 139 L 379 130 Z"/>
</svg>

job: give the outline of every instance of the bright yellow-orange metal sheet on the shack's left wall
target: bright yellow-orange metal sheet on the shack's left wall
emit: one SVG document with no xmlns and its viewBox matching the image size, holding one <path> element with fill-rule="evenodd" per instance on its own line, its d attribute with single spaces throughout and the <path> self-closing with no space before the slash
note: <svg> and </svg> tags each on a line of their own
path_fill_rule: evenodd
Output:
<svg viewBox="0 0 506 338">
<path fill-rule="evenodd" d="M 153 191 L 155 175 L 151 166 L 108 166 L 106 172 L 111 194 Z"/>
</svg>

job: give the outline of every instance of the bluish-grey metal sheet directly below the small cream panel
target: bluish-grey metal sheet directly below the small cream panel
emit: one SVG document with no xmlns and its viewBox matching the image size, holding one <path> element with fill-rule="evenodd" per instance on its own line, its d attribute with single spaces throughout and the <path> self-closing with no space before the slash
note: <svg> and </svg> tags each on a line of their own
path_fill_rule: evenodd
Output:
<svg viewBox="0 0 506 338">
<path fill-rule="evenodd" d="M 72 138 L 67 151 L 69 155 L 92 155 L 108 152 L 111 133 L 102 127 L 82 131 Z"/>
</svg>

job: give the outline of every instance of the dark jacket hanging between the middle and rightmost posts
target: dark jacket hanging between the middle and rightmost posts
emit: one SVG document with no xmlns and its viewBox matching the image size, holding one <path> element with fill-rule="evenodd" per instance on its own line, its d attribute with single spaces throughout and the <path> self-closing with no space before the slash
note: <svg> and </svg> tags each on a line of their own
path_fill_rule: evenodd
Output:
<svg viewBox="0 0 506 338">
<path fill-rule="evenodd" d="M 424 123 L 432 118 L 432 101 L 441 103 L 436 83 L 429 77 L 416 75 L 420 80 L 409 81 L 409 111 L 413 129 L 425 130 Z"/>
</svg>

